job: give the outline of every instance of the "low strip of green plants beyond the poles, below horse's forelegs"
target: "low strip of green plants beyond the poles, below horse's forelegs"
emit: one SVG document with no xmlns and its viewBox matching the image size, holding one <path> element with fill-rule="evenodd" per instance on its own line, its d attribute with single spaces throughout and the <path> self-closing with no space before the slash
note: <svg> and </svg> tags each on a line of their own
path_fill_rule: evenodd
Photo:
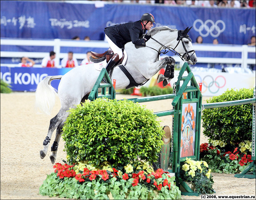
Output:
<svg viewBox="0 0 256 200">
<path fill-rule="evenodd" d="M 157 96 L 162 94 L 172 94 L 173 89 L 171 87 L 159 88 L 158 86 L 153 87 L 141 87 L 139 92 L 143 97 Z"/>
</svg>

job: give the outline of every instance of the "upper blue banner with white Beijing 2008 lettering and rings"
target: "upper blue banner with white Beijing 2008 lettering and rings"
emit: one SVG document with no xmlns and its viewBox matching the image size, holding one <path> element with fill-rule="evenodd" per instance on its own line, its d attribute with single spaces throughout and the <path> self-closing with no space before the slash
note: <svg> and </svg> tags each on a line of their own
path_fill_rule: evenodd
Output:
<svg viewBox="0 0 256 200">
<path fill-rule="evenodd" d="M 217 38 L 223 44 L 248 44 L 255 35 L 255 9 L 170 7 L 149 5 L 1 1 L 1 37 L 103 40 L 104 28 L 154 15 L 156 26 L 174 29 L 193 26 L 190 37 L 203 43 Z"/>
</svg>

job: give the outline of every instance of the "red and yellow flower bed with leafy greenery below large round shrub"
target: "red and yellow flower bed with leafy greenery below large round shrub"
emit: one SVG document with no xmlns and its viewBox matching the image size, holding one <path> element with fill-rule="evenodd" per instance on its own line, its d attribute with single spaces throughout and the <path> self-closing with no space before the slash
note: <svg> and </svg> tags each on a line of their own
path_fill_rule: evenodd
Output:
<svg viewBox="0 0 256 200">
<path fill-rule="evenodd" d="M 140 161 L 121 168 L 104 162 L 100 168 L 80 162 L 78 165 L 56 163 L 39 193 L 50 197 L 81 199 L 181 199 L 175 177 L 149 163 Z"/>
</svg>

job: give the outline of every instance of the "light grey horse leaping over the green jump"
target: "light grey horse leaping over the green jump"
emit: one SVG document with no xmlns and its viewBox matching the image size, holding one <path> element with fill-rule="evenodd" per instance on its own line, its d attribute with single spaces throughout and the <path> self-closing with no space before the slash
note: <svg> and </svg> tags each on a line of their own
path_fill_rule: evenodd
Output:
<svg viewBox="0 0 256 200">
<path fill-rule="evenodd" d="M 191 29 L 192 27 L 190 27 Z M 197 57 L 193 50 L 192 40 L 187 34 L 190 30 L 171 29 L 167 26 L 155 27 L 147 32 L 151 36 L 146 43 L 146 47 L 136 48 L 132 42 L 125 45 L 128 55 L 126 69 L 134 78 L 136 83 L 142 84 L 149 80 L 165 65 L 175 64 L 172 57 L 165 57 L 158 61 L 161 51 L 171 50 L 190 64 L 195 64 Z M 43 159 L 48 151 L 53 131 L 56 130 L 56 136 L 51 147 L 51 162 L 54 164 L 57 156 L 58 144 L 62 134 L 62 127 L 66 121 L 70 108 L 77 104 L 85 102 L 92 90 L 100 71 L 94 68 L 94 64 L 77 66 L 67 72 L 65 75 L 47 76 L 38 85 L 35 92 L 35 108 L 45 114 L 50 114 L 55 103 L 55 96 L 58 95 L 61 108 L 56 116 L 50 120 L 48 134 L 43 141 L 43 149 L 40 150 L 40 157 Z M 51 86 L 51 81 L 60 79 L 58 91 Z M 117 66 L 112 72 L 112 79 L 116 80 L 116 89 L 124 89 L 130 84 L 130 80 Z M 159 77 L 158 82 L 164 80 L 167 85 L 171 78 Z"/>
</svg>

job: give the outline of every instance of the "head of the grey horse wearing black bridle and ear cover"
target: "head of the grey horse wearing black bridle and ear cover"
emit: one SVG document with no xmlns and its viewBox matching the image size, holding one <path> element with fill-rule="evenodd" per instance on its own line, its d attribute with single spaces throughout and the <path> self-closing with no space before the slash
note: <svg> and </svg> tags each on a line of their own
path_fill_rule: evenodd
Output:
<svg viewBox="0 0 256 200">
<path fill-rule="evenodd" d="M 188 35 L 191 28 L 192 26 L 185 30 L 178 30 L 177 44 L 173 49 L 180 54 L 181 59 L 194 65 L 197 62 L 197 57 L 192 46 L 192 40 Z"/>
</svg>

